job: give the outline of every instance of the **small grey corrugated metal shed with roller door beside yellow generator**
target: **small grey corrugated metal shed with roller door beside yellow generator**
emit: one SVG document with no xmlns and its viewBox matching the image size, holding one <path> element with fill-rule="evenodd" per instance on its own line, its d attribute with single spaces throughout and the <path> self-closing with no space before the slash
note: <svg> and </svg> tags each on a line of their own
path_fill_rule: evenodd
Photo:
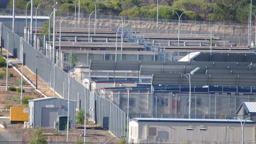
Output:
<svg viewBox="0 0 256 144">
<path fill-rule="evenodd" d="M 67 116 L 68 100 L 57 97 L 31 99 L 29 101 L 29 122 L 32 127 L 54 128 L 59 116 Z M 76 101 L 69 100 L 70 128 L 75 128 Z"/>
</svg>

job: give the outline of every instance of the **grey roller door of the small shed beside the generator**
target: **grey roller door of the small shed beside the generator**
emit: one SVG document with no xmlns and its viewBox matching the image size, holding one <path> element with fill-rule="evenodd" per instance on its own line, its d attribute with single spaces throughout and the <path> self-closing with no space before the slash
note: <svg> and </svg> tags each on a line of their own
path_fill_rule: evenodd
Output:
<svg viewBox="0 0 256 144">
<path fill-rule="evenodd" d="M 42 107 L 41 109 L 41 127 L 54 128 L 54 121 L 57 121 L 59 115 L 58 108 Z"/>
</svg>

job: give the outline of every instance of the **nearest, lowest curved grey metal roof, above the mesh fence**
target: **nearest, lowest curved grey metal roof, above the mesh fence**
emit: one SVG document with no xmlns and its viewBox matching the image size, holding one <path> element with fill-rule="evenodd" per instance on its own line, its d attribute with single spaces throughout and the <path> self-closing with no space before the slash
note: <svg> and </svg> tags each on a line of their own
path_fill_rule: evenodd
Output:
<svg viewBox="0 0 256 144">
<path fill-rule="evenodd" d="M 256 75 L 190 75 L 191 85 L 256 86 Z M 151 84 L 189 85 L 181 74 L 153 74 Z"/>
</svg>

